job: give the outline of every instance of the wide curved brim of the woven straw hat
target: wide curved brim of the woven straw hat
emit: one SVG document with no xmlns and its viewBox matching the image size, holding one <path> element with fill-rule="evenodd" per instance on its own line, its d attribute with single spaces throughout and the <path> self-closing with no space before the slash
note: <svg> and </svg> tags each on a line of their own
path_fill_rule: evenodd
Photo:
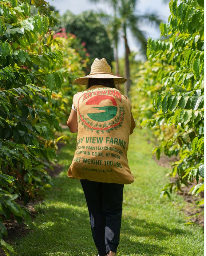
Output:
<svg viewBox="0 0 206 256">
<path fill-rule="evenodd" d="M 75 79 L 75 82 L 78 84 L 88 85 L 89 78 L 113 78 L 114 84 L 123 84 L 127 81 L 124 77 L 114 76 L 112 74 L 92 74 L 90 76 L 82 76 L 77 79 Z"/>
</svg>

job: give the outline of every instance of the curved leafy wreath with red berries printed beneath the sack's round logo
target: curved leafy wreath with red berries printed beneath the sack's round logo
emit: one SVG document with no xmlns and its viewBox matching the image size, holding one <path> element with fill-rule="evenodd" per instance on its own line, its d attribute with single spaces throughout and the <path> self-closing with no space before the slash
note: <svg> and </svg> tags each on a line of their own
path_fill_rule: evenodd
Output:
<svg viewBox="0 0 206 256">
<path fill-rule="evenodd" d="M 97 134 L 99 134 L 99 131 L 104 133 L 104 131 L 107 131 L 107 133 L 110 133 L 111 130 L 117 130 L 119 127 L 122 127 L 122 121 L 124 120 L 124 106 L 119 106 L 119 114 L 117 118 L 115 118 L 115 122 L 112 120 L 110 122 L 104 122 L 102 125 L 101 123 L 98 122 L 93 122 L 93 121 L 87 121 L 89 118 L 84 117 L 84 115 L 81 115 L 79 113 L 79 123 L 82 121 L 82 126 L 87 130 L 91 131 L 96 131 Z M 95 123 L 95 124 L 94 124 Z"/>
</svg>

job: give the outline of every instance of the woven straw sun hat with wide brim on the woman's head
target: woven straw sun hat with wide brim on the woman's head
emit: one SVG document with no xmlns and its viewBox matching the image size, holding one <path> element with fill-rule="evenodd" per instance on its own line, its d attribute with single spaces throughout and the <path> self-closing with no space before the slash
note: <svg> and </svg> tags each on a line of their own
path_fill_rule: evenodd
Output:
<svg viewBox="0 0 206 256">
<path fill-rule="evenodd" d="M 114 84 L 123 84 L 127 81 L 124 77 L 114 76 L 111 72 L 111 67 L 107 63 L 106 58 L 99 60 L 95 58 L 94 62 L 91 65 L 91 72 L 88 76 L 83 76 L 75 79 L 75 82 L 78 84 L 87 85 L 89 78 L 113 78 Z"/>
</svg>

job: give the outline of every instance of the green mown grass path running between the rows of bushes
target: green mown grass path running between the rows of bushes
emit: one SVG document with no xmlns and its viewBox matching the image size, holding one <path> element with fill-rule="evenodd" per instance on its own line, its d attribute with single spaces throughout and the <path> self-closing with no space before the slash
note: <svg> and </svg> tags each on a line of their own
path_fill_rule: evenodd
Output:
<svg viewBox="0 0 206 256">
<path fill-rule="evenodd" d="M 68 131 L 67 131 L 68 132 Z M 34 231 L 16 240 L 18 256 L 95 256 L 86 200 L 79 180 L 67 177 L 76 140 L 61 149 L 63 171 L 53 178 L 45 204 L 38 206 Z M 166 169 L 151 157 L 151 135 L 135 129 L 128 161 L 135 181 L 124 186 L 118 256 L 203 256 L 203 230 L 187 221 L 181 196 L 173 202 L 158 197 L 167 182 Z"/>
</svg>

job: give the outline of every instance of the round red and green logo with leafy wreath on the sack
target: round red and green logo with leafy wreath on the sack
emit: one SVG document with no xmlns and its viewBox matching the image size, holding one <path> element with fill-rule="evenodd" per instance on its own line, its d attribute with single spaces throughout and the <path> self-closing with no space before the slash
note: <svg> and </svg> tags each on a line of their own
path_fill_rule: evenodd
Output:
<svg viewBox="0 0 206 256">
<path fill-rule="evenodd" d="M 124 106 L 116 102 L 118 98 L 111 95 L 94 95 L 85 99 L 82 95 L 78 100 L 78 123 L 82 122 L 85 129 L 110 133 L 122 126 L 124 120 Z M 79 102 L 81 107 L 79 109 Z M 81 109 L 86 110 L 81 114 Z"/>
</svg>

